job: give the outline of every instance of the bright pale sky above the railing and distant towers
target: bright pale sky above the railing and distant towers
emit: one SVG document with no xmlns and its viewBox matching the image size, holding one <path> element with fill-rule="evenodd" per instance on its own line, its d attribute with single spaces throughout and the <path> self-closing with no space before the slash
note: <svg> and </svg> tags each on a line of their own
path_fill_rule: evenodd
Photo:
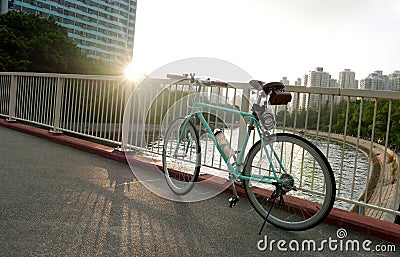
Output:
<svg viewBox="0 0 400 257">
<path fill-rule="evenodd" d="M 316 67 L 361 80 L 400 70 L 399 29 L 399 0 L 138 0 L 133 64 L 210 57 L 264 81 Z"/>
</svg>

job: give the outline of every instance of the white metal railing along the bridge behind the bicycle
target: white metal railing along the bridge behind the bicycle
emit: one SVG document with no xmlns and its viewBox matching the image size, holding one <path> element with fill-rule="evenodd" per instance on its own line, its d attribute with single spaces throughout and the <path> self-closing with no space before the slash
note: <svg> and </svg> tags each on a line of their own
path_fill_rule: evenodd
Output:
<svg viewBox="0 0 400 257">
<path fill-rule="evenodd" d="M 247 83 L 230 84 L 228 89 L 207 87 L 203 92 L 219 95 L 219 102 L 248 111 L 254 92 Z M 123 77 L 0 73 L 0 116 L 125 149 L 139 146 L 144 154 L 159 156 L 162 126 L 188 113 L 187 101 L 179 99 L 192 89 L 156 78 L 143 81 L 141 91 L 131 96 L 133 87 Z M 391 124 L 395 122 L 392 116 L 397 111 L 393 106 L 397 106 L 400 92 L 299 86 L 287 86 L 286 90 L 292 92 L 293 101 L 288 106 L 274 107 L 277 129 L 304 133 L 325 153 L 335 171 L 338 206 L 389 221 L 400 215 L 400 165 L 389 149 Z M 127 105 L 130 96 L 132 104 Z M 386 114 L 378 111 L 381 103 L 385 104 Z M 126 106 L 129 108 L 124 113 Z M 335 116 L 337 106 L 343 109 L 343 117 Z M 354 109 L 357 113 L 352 112 Z M 363 135 L 365 113 L 371 114 L 367 138 Z M 124 115 L 128 123 L 126 145 L 122 145 Z M 385 115 L 384 124 L 378 115 Z M 222 127 L 223 121 L 228 139 L 235 146 L 234 142 L 242 138 L 243 120 L 220 113 L 206 118 L 215 127 Z M 341 134 L 336 133 L 337 120 L 343 124 Z M 377 126 L 381 130 L 385 127 L 385 133 L 376 135 Z M 212 145 L 202 153 L 208 155 L 202 158 L 203 165 L 224 169 Z"/>
</svg>

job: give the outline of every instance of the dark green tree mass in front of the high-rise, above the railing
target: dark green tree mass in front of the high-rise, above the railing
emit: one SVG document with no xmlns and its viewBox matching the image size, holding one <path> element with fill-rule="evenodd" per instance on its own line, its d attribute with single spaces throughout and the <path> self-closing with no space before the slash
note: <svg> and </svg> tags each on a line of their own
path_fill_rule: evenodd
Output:
<svg viewBox="0 0 400 257">
<path fill-rule="evenodd" d="M 105 62 L 83 55 L 54 20 L 11 11 L 0 15 L 0 71 L 111 75 Z"/>
</svg>

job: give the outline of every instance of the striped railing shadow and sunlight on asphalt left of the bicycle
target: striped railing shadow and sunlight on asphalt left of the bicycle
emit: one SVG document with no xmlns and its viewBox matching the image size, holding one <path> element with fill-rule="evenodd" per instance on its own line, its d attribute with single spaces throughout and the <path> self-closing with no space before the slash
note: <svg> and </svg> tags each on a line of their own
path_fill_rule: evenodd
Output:
<svg viewBox="0 0 400 257">
<path fill-rule="evenodd" d="M 199 214 L 193 212 L 190 204 L 160 199 L 143 189 L 132 173 L 126 171 L 93 167 L 89 172 L 92 174 L 82 182 L 83 187 L 60 199 L 65 205 L 59 210 L 60 216 L 65 216 L 65 223 L 50 235 L 53 243 L 62 245 L 60 254 L 190 256 L 201 251 L 221 254 L 218 245 L 201 249 L 205 224 L 196 220 Z M 65 244 L 62 241 L 68 234 L 73 236 Z"/>
</svg>

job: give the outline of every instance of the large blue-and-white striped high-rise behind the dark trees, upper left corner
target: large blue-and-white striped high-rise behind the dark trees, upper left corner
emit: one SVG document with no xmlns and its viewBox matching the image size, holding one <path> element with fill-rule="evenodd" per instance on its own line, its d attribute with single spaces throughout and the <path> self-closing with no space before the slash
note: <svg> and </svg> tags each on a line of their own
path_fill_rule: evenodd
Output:
<svg viewBox="0 0 400 257">
<path fill-rule="evenodd" d="M 0 0 L 9 10 L 53 18 L 81 51 L 108 62 L 132 59 L 136 0 Z"/>
</svg>

